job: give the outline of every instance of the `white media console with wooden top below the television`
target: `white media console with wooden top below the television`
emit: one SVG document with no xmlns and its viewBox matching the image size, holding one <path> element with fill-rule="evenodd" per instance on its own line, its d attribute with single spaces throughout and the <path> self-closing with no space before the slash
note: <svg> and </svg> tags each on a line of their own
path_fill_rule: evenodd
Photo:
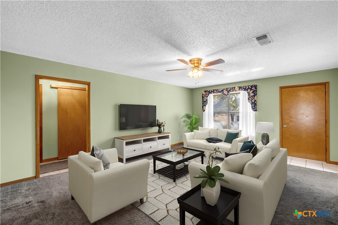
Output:
<svg viewBox="0 0 338 225">
<path fill-rule="evenodd" d="M 126 159 L 165 148 L 170 150 L 170 133 L 146 133 L 115 137 L 117 154 L 126 163 Z"/>
</svg>

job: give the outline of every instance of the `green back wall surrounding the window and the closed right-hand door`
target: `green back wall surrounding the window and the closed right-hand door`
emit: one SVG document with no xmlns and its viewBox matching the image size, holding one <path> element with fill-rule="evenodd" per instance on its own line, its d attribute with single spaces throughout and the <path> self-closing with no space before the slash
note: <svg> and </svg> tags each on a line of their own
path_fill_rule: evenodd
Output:
<svg viewBox="0 0 338 225">
<path fill-rule="evenodd" d="M 235 87 L 250 84 L 257 84 L 257 112 L 255 122 L 273 122 L 274 134 L 269 134 L 270 140 L 279 139 L 279 87 L 297 84 L 310 84 L 319 82 L 330 82 L 330 161 L 338 162 L 338 69 L 327 69 L 302 74 L 293 74 L 280 77 L 271 77 L 259 80 L 250 80 L 230 84 L 222 84 L 192 90 L 192 110 L 198 110 L 202 114 L 202 91 L 217 88 Z M 315 128 L 314 128 L 315 129 Z M 256 143 L 261 140 L 261 134 L 256 133 Z"/>
</svg>

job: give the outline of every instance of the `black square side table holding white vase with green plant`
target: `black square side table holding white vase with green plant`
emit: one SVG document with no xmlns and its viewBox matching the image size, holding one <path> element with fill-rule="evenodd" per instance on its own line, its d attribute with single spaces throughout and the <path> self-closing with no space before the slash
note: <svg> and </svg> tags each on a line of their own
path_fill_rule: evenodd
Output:
<svg viewBox="0 0 338 225">
<path fill-rule="evenodd" d="M 216 205 L 207 204 L 201 197 L 201 185 L 197 185 L 190 191 L 177 198 L 179 204 L 179 224 L 185 224 L 185 212 L 197 217 L 201 221 L 197 224 L 222 224 L 225 218 L 234 209 L 235 225 L 239 223 L 239 198 L 241 193 L 222 187 Z"/>
</svg>

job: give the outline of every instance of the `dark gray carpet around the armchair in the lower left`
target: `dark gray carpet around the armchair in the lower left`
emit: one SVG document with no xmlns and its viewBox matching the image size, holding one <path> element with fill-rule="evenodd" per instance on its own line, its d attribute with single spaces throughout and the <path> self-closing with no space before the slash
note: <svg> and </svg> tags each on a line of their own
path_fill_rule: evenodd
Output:
<svg viewBox="0 0 338 225">
<path fill-rule="evenodd" d="M 90 224 L 70 199 L 68 172 L 1 187 L 1 224 Z M 130 204 L 97 224 L 158 224 Z"/>
</svg>

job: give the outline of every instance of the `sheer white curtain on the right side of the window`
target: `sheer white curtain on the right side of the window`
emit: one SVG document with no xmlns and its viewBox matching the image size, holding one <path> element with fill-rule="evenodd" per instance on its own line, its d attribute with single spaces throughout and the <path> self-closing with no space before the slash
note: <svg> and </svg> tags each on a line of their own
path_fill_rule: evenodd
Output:
<svg viewBox="0 0 338 225">
<path fill-rule="evenodd" d="M 249 140 L 254 140 L 254 142 L 256 142 L 255 112 L 251 110 L 251 105 L 248 102 L 248 94 L 245 91 L 240 91 L 239 130 L 242 130 L 242 135 L 249 136 Z"/>
</svg>

